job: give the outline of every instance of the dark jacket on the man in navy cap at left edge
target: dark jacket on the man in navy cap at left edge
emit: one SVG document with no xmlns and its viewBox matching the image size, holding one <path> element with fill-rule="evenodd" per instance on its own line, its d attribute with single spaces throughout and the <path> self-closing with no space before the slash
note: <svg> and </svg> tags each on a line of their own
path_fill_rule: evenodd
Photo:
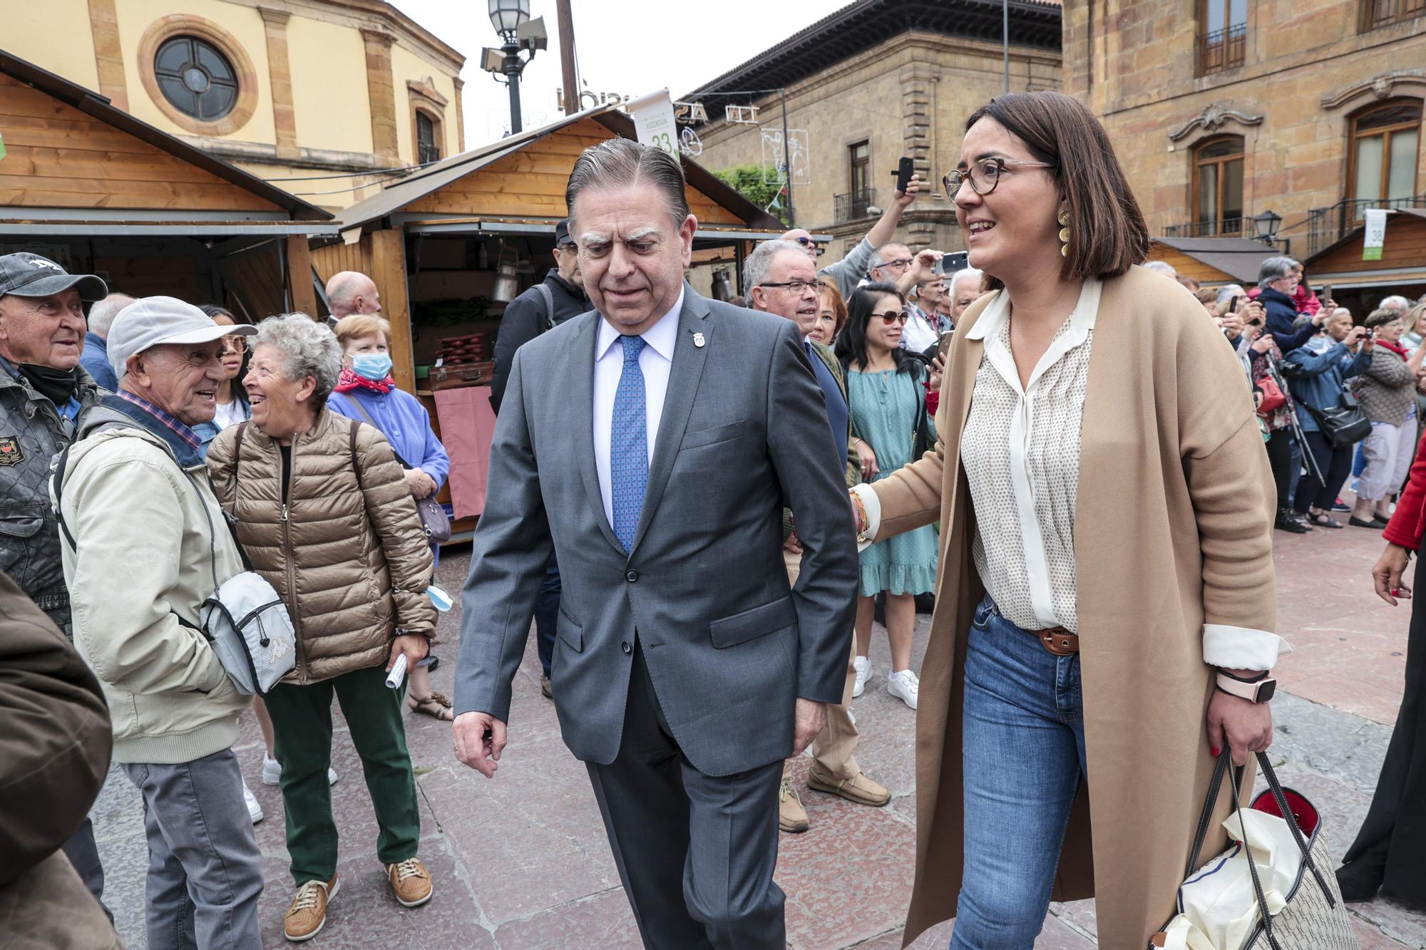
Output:
<svg viewBox="0 0 1426 950">
<path fill-rule="evenodd" d="M 83 412 L 103 391 L 83 367 L 78 377 L 74 395 Z M 0 571 L 14 578 L 66 636 L 71 633 L 70 598 L 48 482 L 50 461 L 73 438 L 73 421 L 7 362 L 0 367 Z"/>
</svg>

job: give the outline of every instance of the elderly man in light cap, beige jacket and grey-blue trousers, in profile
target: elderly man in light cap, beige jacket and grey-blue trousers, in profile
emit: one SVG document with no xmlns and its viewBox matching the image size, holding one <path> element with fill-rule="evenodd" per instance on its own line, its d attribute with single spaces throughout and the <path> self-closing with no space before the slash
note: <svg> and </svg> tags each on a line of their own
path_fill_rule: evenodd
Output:
<svg viewBox="0 0 1426 950">
<path fill-rule="evenodd" d="M 80 417 L 51 486 L 74 645 L 144 796 L 150 950 L 262 946 L 262 857 L 232 755 L 248 698 L 198 629 L 242 561 L 190 428 L 212 418 L 220 338 L 252 330 L 171 297 L 125 307 L 108 335 L 118 392 Z"/>
</svg>

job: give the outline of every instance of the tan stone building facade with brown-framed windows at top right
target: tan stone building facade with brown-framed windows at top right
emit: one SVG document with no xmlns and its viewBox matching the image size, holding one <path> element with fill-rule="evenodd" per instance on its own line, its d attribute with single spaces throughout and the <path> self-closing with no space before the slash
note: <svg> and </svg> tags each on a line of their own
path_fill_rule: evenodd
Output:
<svg viewBox="0 0 1426 950">
<path fill-rule="evenodd" d="M 1426 207 L 1420 0 L 1079 0 L 1064 90 L 1099 116 L 1155 237 L 1309 257 L 1366 207 Z"/>
</svg>

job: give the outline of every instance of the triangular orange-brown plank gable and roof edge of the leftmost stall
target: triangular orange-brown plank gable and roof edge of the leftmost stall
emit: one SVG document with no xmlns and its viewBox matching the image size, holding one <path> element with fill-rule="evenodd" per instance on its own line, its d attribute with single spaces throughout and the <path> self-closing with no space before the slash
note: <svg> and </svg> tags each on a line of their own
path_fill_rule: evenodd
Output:
<svg viewBox="0 0 1426 950">
<path fill-rule="evenodd" d="M 51 233 L 93 234 L 123 221 L 148 231 L 204 224 L 318 224 L 332 215 L 181 138 L 140 121 L 108 98 L 0 50 L 0 217 Z M 230 227 L 225 227 L 230 225 Z M 54 230 L 57 228 L 57 231 Z M 10 228 L 13 230 L 13 228 Z"/>
</svg>

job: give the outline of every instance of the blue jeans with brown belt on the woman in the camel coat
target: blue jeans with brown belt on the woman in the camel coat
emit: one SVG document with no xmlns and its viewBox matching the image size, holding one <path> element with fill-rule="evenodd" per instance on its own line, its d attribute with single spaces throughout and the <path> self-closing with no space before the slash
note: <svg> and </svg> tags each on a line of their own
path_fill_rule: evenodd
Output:
<svg viewBox="0 0 1426 950">
<path fill-rule="evenodd" d="M 987 596 L 965 648 L 965 872 L 951 950 L 1030 950 L 1085 773 L 1079 658 Z"/>
</svg>

